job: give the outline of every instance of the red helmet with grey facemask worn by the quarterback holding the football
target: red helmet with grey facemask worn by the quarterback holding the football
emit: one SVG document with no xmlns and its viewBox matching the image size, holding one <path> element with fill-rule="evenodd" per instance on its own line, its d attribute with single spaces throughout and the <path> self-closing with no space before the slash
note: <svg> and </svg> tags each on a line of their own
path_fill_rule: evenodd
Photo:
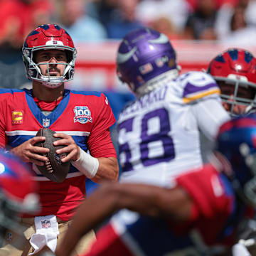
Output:
<svg viewBox="0 0 256 256">
<path fill-rule="evenodd" d="M 65 50 L 68 62 L 59 63 L 65 65 L 63 76 L 51 77 L 42 75 L 41 69 L 33 60 L 35 50 Z M 63 82 L 72 80 L 75 73 L 76 49 L 72 38 L 63 28 L 55 24 L 38 26 L 27 36 L 23 43 L 22 55 L 28 79 L 43 82 L 47 87 L 58 87 Z M 46 63 L 49 65 L 50 63 Z"/>
</svg>

